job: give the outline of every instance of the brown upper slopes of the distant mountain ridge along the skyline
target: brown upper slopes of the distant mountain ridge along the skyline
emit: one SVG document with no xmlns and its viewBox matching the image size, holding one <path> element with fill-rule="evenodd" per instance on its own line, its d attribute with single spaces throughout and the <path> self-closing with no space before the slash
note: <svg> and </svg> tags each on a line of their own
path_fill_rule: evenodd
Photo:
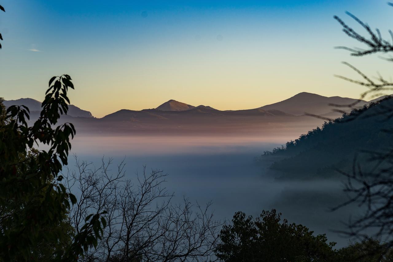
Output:
<svg viewBox="0 0 393 262">
<path fill-rule="evenodd" d="M 116 119 L 118 121 L 147 121 L 148 119 L 173 119 L 182 117 L 198 117 L 204 116 L 263 116 L 263 117 L 290 117 L 290 116 L 301 116 L 305 113 L 316 114 L 328 118 L 336 118 L 341 116 L 341 113 L 333 112 L 336 107 L 331 104 L 337 105 L 349 105 L 357 102 L 355 107 L 362 107 L 365 104 L 378 101 L 385 96 L 373 99 L 371 101 L 358 100 L 354 98 L 343 98 L 340 96 L 326 97 L 318 94 L 312 94 L 308 92 L 301 92 L 292 96 L 286 100 L 279 101 L 270 105 L 264 105 L 255 109 L 244 109 L 244 110 L 226 110 L 221 111 L 214 109 L 210 106 L 198 105 L 193 106 L 187 103 L 182 103 L 176 100 L 169 100 L 156 109 L 143 109 L 141 111 L 121 109 L 114 113 L 104 116 L 102 119 Z M 4 101 L 6 107 L 10 105 L 26 105 L 30 111 L 40 111 L 41 103 L 31 98 L 21 98 L 18 100 Z M 93 117 L 89 111 L 85 111 L 76 107 L 75 105 L 69 106 L 69 116 L 74 117 Z M 345 109 L 345 108 L 339 108 Z M 347 109 L 347 111 L 350 111 Z M 173 112 L 173 113 L 171 113 Z M 180 114 L 174 114 L 174 113 Z"/>
</svg>

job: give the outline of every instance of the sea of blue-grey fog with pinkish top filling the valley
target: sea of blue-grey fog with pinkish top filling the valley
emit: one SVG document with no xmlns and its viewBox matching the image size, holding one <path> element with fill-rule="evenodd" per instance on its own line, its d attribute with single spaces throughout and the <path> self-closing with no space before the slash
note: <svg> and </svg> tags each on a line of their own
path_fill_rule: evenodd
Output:
<svg viewBox="0 0 393 262">
<path fill-rule="evenodd" d="M 338 179 L 281 181 L 268 174 L 267 166 L 253 159 L 287 140 L 261 137 L 209 136 L 77 136 L 72 153 L 79 160 L 99 166 L 101 159 L 125 159 L 127 177 L 136 178 L 143 165 L 148 170 L 168 173 L 165 186 L 174 192 L 174 203 L 184 197 L 203 205 L 213 202 L 217 220 L 230 220 L 237 211 L 258 216 L 263 209 L 275 208 L 290 222 L 303 224 L 317 234 L 326 233 L 336 247 L 348 239 L 335 230 L 346 229 L 343 222 L 356 216 L 356 206 L 330 212 L 344 201 L 343 185 Z M 74 168 L 70 159 L 68 167 Z"/>
</svg>

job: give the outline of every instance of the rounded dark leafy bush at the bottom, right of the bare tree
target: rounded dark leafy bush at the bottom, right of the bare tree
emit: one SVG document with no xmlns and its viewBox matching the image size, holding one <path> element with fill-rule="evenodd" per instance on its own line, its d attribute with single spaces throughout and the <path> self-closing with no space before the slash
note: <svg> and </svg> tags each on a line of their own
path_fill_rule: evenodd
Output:
<svg viewBox="0 0 393 262">
<path fill-rule="evenodd" d="M 215 253 L 221 261 L 333 261 L 333 247 L 325 234 L 313 235 L 303 225 L 281 221 L 275 209 L 253 220 L 237 212 L 223 226 Z"/>
</svg>

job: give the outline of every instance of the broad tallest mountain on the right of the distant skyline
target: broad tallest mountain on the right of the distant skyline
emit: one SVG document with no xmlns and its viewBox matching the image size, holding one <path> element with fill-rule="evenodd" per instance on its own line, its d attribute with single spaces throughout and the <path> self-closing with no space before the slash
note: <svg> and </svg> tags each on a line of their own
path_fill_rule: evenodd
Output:
<svg viewBox="0 0 393 262">
<path fill-rule="evenodd" d="M 294 114 L 294 115 L 302 115 L 305 113 L 321 115 L 321 114 L 327 114 L 329 112 L 332 112 L 333 109 L 337 109 L 336 107 L 331 106 L 330 104 L 349 105 L 357 101 L 359 100 L 354 98 L 343 98 L 340 96 L 326 97 L 326 96 L 320 96 L 318 94 L 301 92 L 281 102 L 265 105 L 260 108 L 264 110 L 272 110 L 272 109 L 280 110 L 285 113 Z M 367 101 L 360 100 L 359 103 L 357 103 L 357 106 L 362 107 L 367 103 L 368 103 Z M 338 108 L 338 109 L 343 109 L 343 108 Z"/>
</svg>

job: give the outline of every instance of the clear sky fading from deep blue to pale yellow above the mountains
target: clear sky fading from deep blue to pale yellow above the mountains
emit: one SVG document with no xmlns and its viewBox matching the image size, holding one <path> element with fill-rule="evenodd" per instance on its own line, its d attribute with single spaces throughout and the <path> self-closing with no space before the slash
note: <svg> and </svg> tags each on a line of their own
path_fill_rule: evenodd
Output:
<svg viewBox="0 0 393 262">
<path fill-rule="evenodd" d="M 345 11 L 387 30 L 380 0 L 128 1 L 0 0 L 0 96 L 42 101 L 52 76 L 69 74 L 71 103 L 102 117 L 174 99 L 220 110 L 251 109 L 299 92 L 358 98 L 362 87 L 334 77 L 389 78 L 377 56 L 333 19 Z M 393 26 L 392 26 L 393 27 Z"/>
</svg>

